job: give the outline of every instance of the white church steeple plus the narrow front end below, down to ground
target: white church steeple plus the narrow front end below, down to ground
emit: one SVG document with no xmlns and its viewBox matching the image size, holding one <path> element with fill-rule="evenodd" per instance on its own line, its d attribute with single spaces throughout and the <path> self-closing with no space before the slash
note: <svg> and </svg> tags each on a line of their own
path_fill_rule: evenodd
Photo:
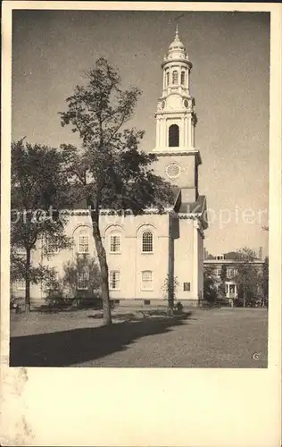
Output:
<svg viewBox="0 0 282 447">
<path fill-rule="evenodd" d="M 199 305 L 203 299 L 203 239 L 208 227 L 206 198 L 198 191 L 200 151 L 195 147 L 195 99 L 192 63 L 178 27 L 162 61 L 162 96 L 158 99 L 154 172 L 178 194 L 170 215 L 169 275 L 178 279 L 177 299 Z"/>
</svg>

